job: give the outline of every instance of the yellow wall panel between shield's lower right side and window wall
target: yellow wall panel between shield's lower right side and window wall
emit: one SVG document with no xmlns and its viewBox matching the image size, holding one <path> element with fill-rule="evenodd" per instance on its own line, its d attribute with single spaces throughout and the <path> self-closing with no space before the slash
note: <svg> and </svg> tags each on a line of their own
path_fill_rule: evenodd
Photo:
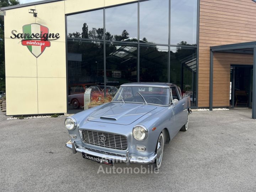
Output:
<svg viewBox="0 0 256 192">
<path fill-rule="evenodd" d="M 37 58 L 37 76 L 66 78 L 66 48 L 64 42 L 51 42 L 51 46 Z"/>
</svg>

